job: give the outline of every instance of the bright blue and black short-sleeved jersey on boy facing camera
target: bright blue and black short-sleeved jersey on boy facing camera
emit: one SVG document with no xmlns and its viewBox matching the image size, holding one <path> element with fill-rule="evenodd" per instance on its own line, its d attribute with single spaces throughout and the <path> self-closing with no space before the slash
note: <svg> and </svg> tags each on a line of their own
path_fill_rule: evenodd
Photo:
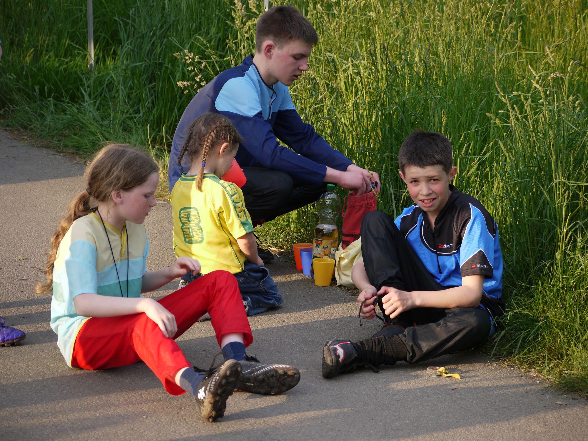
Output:
<svg viewBox="0 0 588 441">
<path fill-rule="evenodd" d="M 482 274 L 480 306 L 493 318 L 504 313 L 502 252 L 492 216 L 476 198 L 449 185 L 451 194 L 430 228 L 418 205 L 405 208 L 394 221 L 419 259 L 440 285 L 462 285 L 462 277 Z"/>
</svg>

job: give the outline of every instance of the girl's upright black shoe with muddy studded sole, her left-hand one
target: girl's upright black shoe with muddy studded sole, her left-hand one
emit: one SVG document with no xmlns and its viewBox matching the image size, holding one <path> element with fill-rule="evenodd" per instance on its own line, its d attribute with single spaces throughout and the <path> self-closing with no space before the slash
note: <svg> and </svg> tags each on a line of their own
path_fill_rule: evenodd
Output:
<svg viewBox="0 0 588 441">
<path fill-rule="evenodd" d="M 237 360 L 226 360 L 214 372 L 201 372 L 207 372 L 209 376 L 198 385 L 196 403 L 202 417 L 212 422 L 225 416 L 226 400 L 233 395 L 233 390 L 239 384 L 241 365 Z"/>
</svg>

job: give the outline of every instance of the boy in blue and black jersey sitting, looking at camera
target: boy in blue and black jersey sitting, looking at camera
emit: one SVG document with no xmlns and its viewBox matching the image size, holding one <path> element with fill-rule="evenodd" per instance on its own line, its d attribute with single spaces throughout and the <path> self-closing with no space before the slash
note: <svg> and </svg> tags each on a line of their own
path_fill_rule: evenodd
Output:
<svg viewBox="0 0 588 441">
<path fill-rule="evenodd" d="M 384 326 L 369 339 L 326 343 L 323 377 L 473 348 L 493 335 L 503 313 L 496 223 L 450 184 L 457 168 L 449 140 L 415 131 L 398 161 L 415 205 L 394 221 L 377 211 L 365 216 L 363 259 L 352 270 L 360 317 L 376 317 L 377 303 Z"/>
</svg>

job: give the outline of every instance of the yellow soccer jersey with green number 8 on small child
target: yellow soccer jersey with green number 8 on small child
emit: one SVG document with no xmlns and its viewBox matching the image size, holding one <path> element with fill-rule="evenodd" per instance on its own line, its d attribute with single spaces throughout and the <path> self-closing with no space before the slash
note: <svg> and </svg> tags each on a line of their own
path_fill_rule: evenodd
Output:
<svg viewBox="0 0 588 441">
<path fill-rule="evenodd" d="M 253 232 L 241 189 L 205 173 L 199 191 L 196 175 L 182 175 L 169 198 L 176 256 L 198 259 L 203 274 L 217 269 L 241 272 L 246 258 L 236 239 Z"/>
</svg>

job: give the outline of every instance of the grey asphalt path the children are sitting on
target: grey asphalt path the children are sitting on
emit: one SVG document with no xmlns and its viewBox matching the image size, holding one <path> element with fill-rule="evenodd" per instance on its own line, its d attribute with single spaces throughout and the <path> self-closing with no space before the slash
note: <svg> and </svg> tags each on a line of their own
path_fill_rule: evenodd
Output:
<svg viewBox="0 0 588 441">
<path fill-rule="evenodd" d="M 51 296 L 36 296 L 49 238 L 69 200 L 85 188 L 83 166 L 0 131 L 0 316 L 26 332 L 0 348 L 2 440 L 585 440 L 588 402 L 555 392 L 538 377 L 471 351 L 428 363 L 320 375 L 328 339 L 366 338 L 355 296 L 334 284 L 316 287 L 287 256 L 268 265 L 283 305 L 250 318 L 248 352 L 300 369 L 298 386 L 279 396 L 235 393 L 225 417 L 203 422 L 190 397 L 171 396 L 143 364 L 105 371 L 69 369 L 49 328 Z M 171 209 L 158 203 L 145 220 L 149 269 L 170 265 Z M 161 298 L 177 281 L 156 292 Z M 218 346 L 210 322 L 178 339 L 195 365 Z M 462 379 L 433 377 L 445 366 Z"/>
</svg>

